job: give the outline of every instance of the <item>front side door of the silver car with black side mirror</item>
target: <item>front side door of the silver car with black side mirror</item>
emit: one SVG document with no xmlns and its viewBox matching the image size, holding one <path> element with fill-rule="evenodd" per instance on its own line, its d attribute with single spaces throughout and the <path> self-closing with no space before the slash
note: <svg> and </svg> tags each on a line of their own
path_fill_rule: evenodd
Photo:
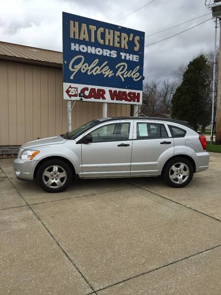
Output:
<svg viewBox="0 0 221 295">
<path fill-rule="evenodd" d="M 83 177 L 130 175 L 133 121 L 106 122 L 87 134 L 92 142 L 82 143 Z"/>
</svg>

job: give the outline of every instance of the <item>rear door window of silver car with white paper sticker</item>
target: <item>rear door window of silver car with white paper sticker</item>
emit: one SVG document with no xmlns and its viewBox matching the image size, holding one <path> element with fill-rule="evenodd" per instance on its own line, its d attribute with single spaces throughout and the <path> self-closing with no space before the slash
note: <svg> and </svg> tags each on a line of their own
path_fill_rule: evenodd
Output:
<svg viewBox="0 0 221 295">
<path fill-rule="evenodd" d="M 164 124 L 137 123 L 137 139 L 167 138 L 168 134 Z"/>
</svg>

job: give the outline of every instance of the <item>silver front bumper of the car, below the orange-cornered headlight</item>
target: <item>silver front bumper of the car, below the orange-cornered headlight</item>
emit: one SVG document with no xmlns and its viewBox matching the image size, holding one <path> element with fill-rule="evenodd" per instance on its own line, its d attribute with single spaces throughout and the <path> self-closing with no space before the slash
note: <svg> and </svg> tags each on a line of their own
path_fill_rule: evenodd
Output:
<svg viewBox="0 0 221 295">
<path fill-rule="evenodd" d="M 13 162 L 16 177 L 26 180 L 33 180 L 34 169 L 39 161 L 16 159 Z"/>
</svg>

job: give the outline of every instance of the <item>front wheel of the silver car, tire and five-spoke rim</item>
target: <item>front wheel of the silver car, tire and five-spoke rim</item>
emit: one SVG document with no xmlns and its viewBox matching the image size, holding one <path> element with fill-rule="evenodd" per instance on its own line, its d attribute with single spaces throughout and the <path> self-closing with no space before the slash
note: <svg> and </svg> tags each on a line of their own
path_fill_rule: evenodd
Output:
<svg viewBox="0 0 221 295">
<path fill-rule="evenodd" d="M 72 180 L 71 167 L 60 159 L 47 160 L 37 171 L 37 181 L 40 187 L 49 193 L 64 191 Z"/>
</svg>

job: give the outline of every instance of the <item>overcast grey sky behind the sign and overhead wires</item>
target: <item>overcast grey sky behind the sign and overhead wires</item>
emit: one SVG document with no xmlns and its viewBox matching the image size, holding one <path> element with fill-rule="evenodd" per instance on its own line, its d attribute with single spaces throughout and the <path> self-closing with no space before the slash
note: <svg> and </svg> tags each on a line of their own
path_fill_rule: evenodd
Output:
<svg viewBox="0 0 221 295">
<path fill-rule="evenodd" d="M 146 35 L 210 13 L 204 0 L 0 0 L 0 40 L 62 51 L 62 11 L 145 31 Z M 207 15 L 146 37 L 150 44 L 197 25 Z M 145 47 L 145 81 L 171 79 L 178 66 L 214 47 L 212 20 L 178 36 Z"/>
</svg>

